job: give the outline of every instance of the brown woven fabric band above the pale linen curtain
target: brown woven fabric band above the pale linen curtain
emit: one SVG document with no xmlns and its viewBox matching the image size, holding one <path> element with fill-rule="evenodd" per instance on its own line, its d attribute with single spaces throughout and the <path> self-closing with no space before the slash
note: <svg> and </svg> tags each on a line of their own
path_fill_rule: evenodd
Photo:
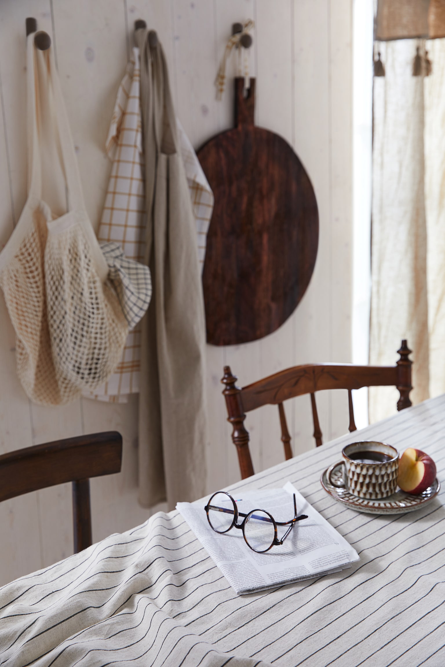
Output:
<svg viewBox="0 0 445 667">
<path fill-rule="evenodd" d="M 376 40 L 445 37 L 445 0 L 378 0 Z"/>
</svg>

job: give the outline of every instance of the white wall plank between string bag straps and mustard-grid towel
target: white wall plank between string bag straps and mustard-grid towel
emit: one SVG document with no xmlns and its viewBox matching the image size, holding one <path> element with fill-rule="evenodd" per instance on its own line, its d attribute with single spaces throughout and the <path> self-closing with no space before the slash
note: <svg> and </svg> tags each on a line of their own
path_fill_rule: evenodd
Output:
<svg viewBox="0 0 445 667">
<path fill-rule="evenodd" d="M 57 67 L 83 187 L 97 229 L 111 163 L 105 140 L 127 65 L 123 0 L 53 0 Z"/>
</svg>

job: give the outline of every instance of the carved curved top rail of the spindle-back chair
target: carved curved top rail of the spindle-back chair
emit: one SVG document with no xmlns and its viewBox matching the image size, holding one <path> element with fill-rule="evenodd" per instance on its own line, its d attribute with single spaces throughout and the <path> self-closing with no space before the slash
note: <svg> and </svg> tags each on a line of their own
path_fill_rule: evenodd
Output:
<svg viewBox="0 0 445 667">
<path fill-rule="evenodd" d="M 267 404 L 329 389 L 360 389 L 398 384 L 398 366 L 304 364 L 280 371 L 241 390 L 246 412 Z"/>
</svg>

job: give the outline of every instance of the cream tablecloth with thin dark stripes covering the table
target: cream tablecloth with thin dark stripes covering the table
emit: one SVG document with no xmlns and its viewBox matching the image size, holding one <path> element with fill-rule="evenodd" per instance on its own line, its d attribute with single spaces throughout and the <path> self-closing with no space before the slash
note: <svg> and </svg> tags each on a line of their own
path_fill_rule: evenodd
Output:
<svg viewBox="0 0 445 667">
<path fill-rule="evenodd" d="M 356 548 L 350 570 L 237 596 L 181 516 L 156 514 L 1 588 L 0 664 L 444 665 L 443 493 L 398 516 L 334 502 L 320 475 L 358 439 L 420 448 L 443 480 L 445 396 L 230 487 L 290 480 Z"/>
</svg>

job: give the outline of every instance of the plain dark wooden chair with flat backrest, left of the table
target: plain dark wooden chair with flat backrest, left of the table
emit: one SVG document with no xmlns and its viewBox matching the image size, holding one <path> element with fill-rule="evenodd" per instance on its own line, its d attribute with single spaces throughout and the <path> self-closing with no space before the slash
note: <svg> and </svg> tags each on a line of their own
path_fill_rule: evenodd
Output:
<svg viewBox="0 0 445 667">
<path fill-rule="evenodd" d="M 73 482 L 74 553 L 91 546 L 89 478 L 121 471 L 122 436 L 110 431 L 56 440 L 0 456 L 0 502 Z"/>
</svg>

